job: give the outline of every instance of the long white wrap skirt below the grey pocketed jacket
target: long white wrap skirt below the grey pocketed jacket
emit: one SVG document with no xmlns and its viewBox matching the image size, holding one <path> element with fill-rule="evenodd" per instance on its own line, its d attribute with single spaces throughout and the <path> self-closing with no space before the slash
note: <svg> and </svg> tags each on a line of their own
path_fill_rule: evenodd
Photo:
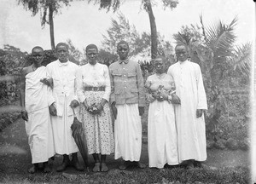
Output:
<svg viewBox="0 0 256 184">
<path fill-rule="evenodd" d="M 142 122 L 138 104 L 116 105 L 117 118 L 114 122 L 114 158 L 139 161 L 142 150 Z"/>
</svg>

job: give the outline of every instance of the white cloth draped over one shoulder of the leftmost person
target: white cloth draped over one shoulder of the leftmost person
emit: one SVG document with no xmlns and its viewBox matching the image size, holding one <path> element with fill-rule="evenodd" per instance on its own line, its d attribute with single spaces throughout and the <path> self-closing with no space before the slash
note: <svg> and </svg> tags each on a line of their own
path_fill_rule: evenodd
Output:
<svg viewBox="0 0 256 184">
<path fill-rule="evenodd" d="M 28 121 L 26 135 L 32 154 L 32 164 L 47 162 L 55 155 L 53 132 L 50 124 L 49 105 L 54 102 L 48 87 L 40 82 L 46 78 L 44 66 L 26 74 L 25 105 Z"/>
</svg>

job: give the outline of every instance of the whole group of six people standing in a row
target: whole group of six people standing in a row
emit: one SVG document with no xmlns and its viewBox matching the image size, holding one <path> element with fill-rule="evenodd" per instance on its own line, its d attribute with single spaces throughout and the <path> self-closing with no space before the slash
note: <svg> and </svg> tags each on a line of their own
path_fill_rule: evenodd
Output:
<svg viewBox="0 0 256 184">
<path fill-rule="evenodd" d="M 89 63 L 77 66 L 67 59 L 67 44 L 58 43 L 58 60 L 45 67 L 41 66 L 44 49 L 35 47 L 32 66 L 22 69 L 20 105 L 32 153 L 30 173 L 41 163 L 49 172 L 48 160 L 55 154 L 63 155 L 57 171 L 68 165 L 84 170 L 72 136 L 74 113 L 83 124 L 94 172 L 108 171 L 106 157 L 113 152 L 115 159 L 123 159 L 120 170 L 131 164 L 145 168 L 140 157 L 146 100 L 149 167 L 186 164 L 193 168 L 207 159 L 203 116 L 207 98 L 200 66 L 188 60 L 185 45 L 176 46 L 177 63 L 167 73 L 164 58 L 157 57 L 155 74 L 146 83 L 140 65 L 128 57 L 125 41 L 117 44 L 119 60 L 109 67 L 97 62 L 95 44 L 85 50 Z"/>
</svg>

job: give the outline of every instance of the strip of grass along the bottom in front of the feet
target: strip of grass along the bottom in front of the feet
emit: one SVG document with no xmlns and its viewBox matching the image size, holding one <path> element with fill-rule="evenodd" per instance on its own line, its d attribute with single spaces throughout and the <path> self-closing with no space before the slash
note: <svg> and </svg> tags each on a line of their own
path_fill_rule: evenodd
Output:
<svg viewBox="0 0 256 184">
<path fill-rule="evenodd" d="M 35 174 L 1 175 L 2 183 L 249 183 L 248 168 L 218 170 L 183 168 L 109 170 L 108 173 L 72 175 Z"/>
</svg>

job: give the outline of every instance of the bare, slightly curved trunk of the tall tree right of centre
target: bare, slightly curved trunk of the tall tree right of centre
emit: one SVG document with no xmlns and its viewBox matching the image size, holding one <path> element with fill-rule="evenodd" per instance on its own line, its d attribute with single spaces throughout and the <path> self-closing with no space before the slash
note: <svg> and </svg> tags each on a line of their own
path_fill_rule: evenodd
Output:
<svg viewBox="0 0 256 184">
<path fill-rule="evenodd" d="M 150 0 L 148 0 L 148 2 L 146 3 L 146 8 L 149 16 L 151 30 L 151 58 L 154 59 L 157 56 L 157 30 Z"/>
</svg>

